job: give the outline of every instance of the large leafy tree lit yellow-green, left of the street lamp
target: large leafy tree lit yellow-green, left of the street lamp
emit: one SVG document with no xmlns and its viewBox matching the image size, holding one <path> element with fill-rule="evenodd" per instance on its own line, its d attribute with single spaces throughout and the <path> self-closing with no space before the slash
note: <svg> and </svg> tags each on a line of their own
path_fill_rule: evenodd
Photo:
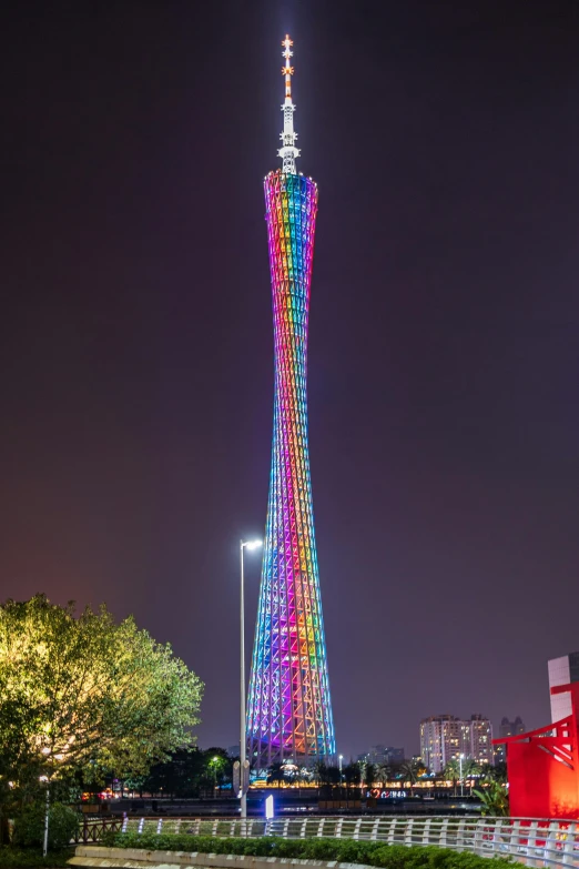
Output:
<svg viewBox="0 0 579 869">
<path fill-rule="evenodd" d="M 191 741 L 203 684 L 171 646 L 103 604 L 79 616 L 44 595 L 0 606 L 0 755 L 22 786 L 82 770 L 146 772 Z"/>
</svg>

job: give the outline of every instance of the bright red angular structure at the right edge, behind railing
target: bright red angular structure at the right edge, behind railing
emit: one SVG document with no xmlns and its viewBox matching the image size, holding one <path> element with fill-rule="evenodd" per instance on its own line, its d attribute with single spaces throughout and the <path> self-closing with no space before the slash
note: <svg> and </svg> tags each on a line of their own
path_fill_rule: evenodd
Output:
<svg viewBox="0 0 579 869">
<path fill-rule="evenodd" d="M 569 693 L 571 714 L 527 734 L 494 739 L 507 749 L 510 814 L 514 818 L 579 818 L 579 683 Z"/>
</svg>

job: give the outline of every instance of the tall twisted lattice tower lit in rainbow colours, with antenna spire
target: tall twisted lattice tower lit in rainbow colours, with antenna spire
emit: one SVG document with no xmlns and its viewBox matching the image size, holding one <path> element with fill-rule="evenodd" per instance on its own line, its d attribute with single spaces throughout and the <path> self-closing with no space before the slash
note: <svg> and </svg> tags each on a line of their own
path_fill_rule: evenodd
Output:
<svg viewBox="0 0 579 869">
<path fill-rule="evenodd" d="M 265 178 L 275 400 L 267 521 L 247 701 L 248 759 L 257 769 L 331 759 L 334 723 L 314 536 L 307 446 L 307 319 L 317 184 L 296 172 L 293 57 L 284 48 L 282 168 Z"/>
</svg>

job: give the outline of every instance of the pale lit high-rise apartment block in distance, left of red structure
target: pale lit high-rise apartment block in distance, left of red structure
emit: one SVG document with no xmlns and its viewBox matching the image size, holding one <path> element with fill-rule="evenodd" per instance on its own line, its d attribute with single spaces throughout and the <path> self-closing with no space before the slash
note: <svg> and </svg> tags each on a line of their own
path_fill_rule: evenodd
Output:
<svg viewBox="0 0 579 869">
<path fill-rule="evenodd" d="M 478 714 L 470 719 L 454 715 L 425 718 L 420 723 L 420 755 L 430 772 L 440 772 L 460 755 L 477 764 L 492 765 L 492 725 Z"/>
</svg>

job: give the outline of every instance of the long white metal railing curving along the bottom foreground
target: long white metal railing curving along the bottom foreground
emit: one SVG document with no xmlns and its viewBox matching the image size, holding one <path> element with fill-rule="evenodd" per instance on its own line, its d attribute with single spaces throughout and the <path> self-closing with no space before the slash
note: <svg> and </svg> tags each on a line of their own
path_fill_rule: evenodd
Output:
<svg viewBox="0 0 579 869">
<path fill-rule="evenodd" d="M 365 839 L 387 845 L 436 845 L 480 857 L 510 857 L 527 866 L 579 869 L 579 821 L 537 818 L 308 817 L 125 818 L 124 831 L 192 836 L 281 836 L 287 839 Z"/>
</svg>

